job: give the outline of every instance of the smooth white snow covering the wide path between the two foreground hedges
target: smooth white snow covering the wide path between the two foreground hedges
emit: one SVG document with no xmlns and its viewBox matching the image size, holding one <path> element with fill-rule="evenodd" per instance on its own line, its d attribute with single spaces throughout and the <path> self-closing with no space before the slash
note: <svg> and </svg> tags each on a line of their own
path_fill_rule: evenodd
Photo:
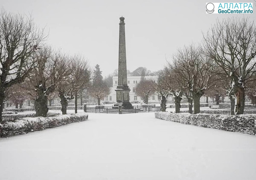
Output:
<svg viewBox="0 0 256 180">
<path fill-rule="evenodd" d="M 154 113 L 89 113 L 84 122 L 0 139 L 1 180 L 255 180 L 255 162 L 256 136 Z"/>
</svg>

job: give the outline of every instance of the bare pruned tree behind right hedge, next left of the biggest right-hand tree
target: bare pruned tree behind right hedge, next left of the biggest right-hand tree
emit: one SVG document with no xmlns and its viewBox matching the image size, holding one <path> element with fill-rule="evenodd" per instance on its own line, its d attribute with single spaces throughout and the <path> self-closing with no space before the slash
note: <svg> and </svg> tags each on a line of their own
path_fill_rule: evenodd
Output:
<svg viewBox="0 0 256 180">
<path fill-rule="evenodd" d="M 213 86 L 212 60 L 206 58 L 200 46 L 185 46 L 174 55 L 172 70 L 181 78 L 194 101 L 194 114 L 200 112 L 200 98 Z"/>
</svg>

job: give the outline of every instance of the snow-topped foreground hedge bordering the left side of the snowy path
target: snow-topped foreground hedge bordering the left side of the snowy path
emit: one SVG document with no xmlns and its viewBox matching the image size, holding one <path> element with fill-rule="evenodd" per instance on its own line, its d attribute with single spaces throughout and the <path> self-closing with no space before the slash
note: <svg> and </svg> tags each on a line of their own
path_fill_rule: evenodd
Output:
<svg viewBox="0 0 256 180">
<path fill-rule="evenodd" d="M 32 131 L 41 131 L 70 123 L 88 119 L 87 113 L 66 114 L 55 117 L 25 117 L 15 122 L 0 124 L 0 137 L 9 137 L 18 134 L 26 134 Z"/>
</svg>

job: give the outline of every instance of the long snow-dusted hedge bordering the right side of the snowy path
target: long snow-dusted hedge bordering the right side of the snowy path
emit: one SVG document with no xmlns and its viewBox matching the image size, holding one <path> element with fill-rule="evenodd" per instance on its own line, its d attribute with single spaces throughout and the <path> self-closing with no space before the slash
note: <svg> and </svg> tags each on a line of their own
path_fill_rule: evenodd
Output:
<svg viewBox="0 0 256 180">
<path fill-rule="evenodd" d="M 224 114 L 189 114 L 155 112 L 155 117 L 183 124 L 221 129 L 225 131 L 256 134 L 256 114 L 224 115 Z"/>
</svg>

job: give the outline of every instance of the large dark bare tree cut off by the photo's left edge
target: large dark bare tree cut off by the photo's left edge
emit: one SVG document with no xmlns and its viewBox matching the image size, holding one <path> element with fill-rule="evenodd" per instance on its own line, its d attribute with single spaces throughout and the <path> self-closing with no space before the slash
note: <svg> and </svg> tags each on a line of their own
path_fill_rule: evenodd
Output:
<svg viewBox="0 0 256 180">
<path fill-rule="evenodd" d="M 41 48 L 45 36 L 31 17 L 20 14 L 0 14 L 0 106 L 6 89 L 31 75 L 35 62 L 31 54 Z M 2 108 L 0 108 L 0 122 Z"/>
</svg>

